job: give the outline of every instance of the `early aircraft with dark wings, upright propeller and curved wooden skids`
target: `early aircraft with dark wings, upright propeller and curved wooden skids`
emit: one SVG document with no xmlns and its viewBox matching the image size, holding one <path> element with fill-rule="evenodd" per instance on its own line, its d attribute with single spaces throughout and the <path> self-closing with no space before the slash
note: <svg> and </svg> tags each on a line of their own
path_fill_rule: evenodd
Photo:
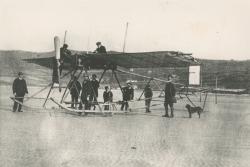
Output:
<svg viewBox="0 0 250 167">
<path fill-rule="evenodd" d="M 55 45 L 54 56 L 46 57 L 46 58 L 26 59 L 25 61 L 30 62 L 30 63 L 35 63 L 41 66 L 45 66 L 48 68 L 52 67 L 53 69 L 52 83 L 50 83 L 47 86 L 47 87 L 50 86 L 50 90 L 47 94 L 47 97 L 45 98 L 45 102 L 43 104 L 44 107 L 45 107 L 47 100 L 50 99 L 54 103 L 56 103 L 60 108 L 66 109 L 68 111 L 78 112 L 78 113 L 88 113 L 88 112 L 96 112 L 96 111 L 71 109 L 63 105 L 64 99 L 67 95 L 67 90 L 70 89 L 69 83 L 71 79 L 68 82 L 62 94 L 60 102 L 57 102 L 53 98 L 49 97 L 51 90 L 56 87 L 55 83 L 59 84 L 59 90 L 61 90 L 62 85 L 61 85 L 60 80 L 61 78 L 67 75 L 77 76 L 77 79 L 78 79 L 83 73 L 85 73 L 86 76 L 89 76 L 88 75 L 89 70 L 93 70 L 93 69 L 103 70 L 101 77 L 99 78 L 99 83 L 100 83 L 106 71 L 111 70 L 112 74 L 114 74 L 115 79 L 122 91 L 120 81 L 117 77 L 117 72 L 134 75 L 137 77 L 143 77 L 148 80 L 147 84 L 149 84 L 153 80 L 164 82 L 164 83 L 168 82 L 165 79 L 154 78 L 154 77 L 149 77 L 146 75 L 141 75 L 138 73 L 133 73 L 131 71 L 124 70 L 124 68 L 125 69 L 159 68 L 159 67 L 171 67 L 171 68 L 174 67 L 175 68 L 175 67 L 199 67 L 200 66 L 200 62 L 198 62 L 194 57 L 192 57 L 191 53 L 182 53 L 182 52 L 177 52 L 177 51 L 156 51 L 156 52 L 137 52 L 137 53 L 108 52 L 106 54 L 82 53 L 82 54 L 75 54 L 71 56 L 61 57 L 60 40 L 59 40 L 59 37 L 57 36 L 54 38 L 54 45 Z M 60 64 L 60 62 L 63 62 L 63 71 L 67 71 L 64 74 L 60 73 L 60 65 L 62 65 Z M 182 84 L 180 85 L 183 86 L 183 89 L 181 91 L 186 92 L 186 96 L 187 96 L 188 86 L 182 85 Z M 42 89 L 41 91 L 43 90 L 45 90 L 45 88 Z M 35 93 L 30 98 L 34 97 L 41 91 Z M 141 96 L 139 99 L 141 99 Z M 190 102 L 192 103 L 191 100 Z M 102 107 L 100 107 L 99 105 L 100 102 L 97 102 L 97 103 L 98 103 L 97 105 L 99 106 L 100 112 L 101 113 L 105 112 L 105 111 L 102 111 Z M 204 106 L 203 106 L 203 109 L 204 109 Z"/>
</svg>

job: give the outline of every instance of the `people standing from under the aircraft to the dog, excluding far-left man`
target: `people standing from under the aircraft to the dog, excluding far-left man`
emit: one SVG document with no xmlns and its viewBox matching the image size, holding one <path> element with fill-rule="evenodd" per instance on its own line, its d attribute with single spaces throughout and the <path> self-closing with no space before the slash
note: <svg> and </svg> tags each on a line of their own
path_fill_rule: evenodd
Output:
<svg viewBox="0 0 250 167">
<path fill-rule="evenodd" d="M 172 83 L 172 75 L 168 76 L 168 82 L 165 85 L 165 101 L 164 108 L 165 114 L 163 117 L 174 117 L 174 103 L 176 103 L 176 90 L 175 86 Z M 78 97 L 81 92 L 81 100 L 79 108 L 82 109 L 83 104 L 85 105 L 86 110 L 90 110 L 91 106 L 94 106 L 97 103 L 98 97 L 98 88 L 99 82 L 96 80 L 96 75 L 92 75 L 92 80 L 89 80 L 88 77 L 84 77 L 82 85 L 77 78 L 74 77 L 70 83 L 70 93 L 72 98 L 71 107 L 74 108 L 78 103 Z M 129 101 L 134 99 L 134 89 L 131 82 L 127 82 L 127 85 L 122 88 L 122 102 L 121 102 L 121 111 L 127 111 L 129 108 Z M 147 84 L 144 89 L 145 97 L 145 108 L 146 112 L 150 113 L 150 106 L 153 97 L 153 91 L 150 88 L 150 85 Z M 113 102 L 113 93 L 108 86 L 105 86 L 105 91 L 103 92 L 103 101 L 104 101 L 104 110 L 109 110 L 109 104 Z M 168 107 L 170 108 L 170 113 L 168 112 Z"/>
</svg>

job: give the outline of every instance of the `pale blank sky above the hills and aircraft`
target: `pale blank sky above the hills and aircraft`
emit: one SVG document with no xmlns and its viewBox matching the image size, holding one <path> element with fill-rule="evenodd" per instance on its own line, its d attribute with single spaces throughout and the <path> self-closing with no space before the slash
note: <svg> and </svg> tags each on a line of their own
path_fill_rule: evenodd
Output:
<svg viewBox="0 0 250 167">
<path fill-rule="evenodd" d="M 0 49 L 174 50 L 207 59 L 250 59 L 249 0 L 0 0 Z"/>
</svg>

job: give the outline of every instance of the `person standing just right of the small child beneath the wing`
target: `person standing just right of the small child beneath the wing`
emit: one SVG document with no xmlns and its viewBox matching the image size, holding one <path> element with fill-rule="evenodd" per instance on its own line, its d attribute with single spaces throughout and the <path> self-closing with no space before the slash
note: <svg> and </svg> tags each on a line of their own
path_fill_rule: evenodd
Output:
<svg viewBox="0 0 250 167">
<path fill-rule="evenodd" d="M 128 110 L 128 101 L 133 100 L 134 99 L 134 89 L 132 87 L 131 82 L 127 82 L 127 86 L 122 88 L 122 106 L 121 106 L 121 110 L 123 111 L 124 107 L 125 107 L 125 111 Z"/>
</svg>

